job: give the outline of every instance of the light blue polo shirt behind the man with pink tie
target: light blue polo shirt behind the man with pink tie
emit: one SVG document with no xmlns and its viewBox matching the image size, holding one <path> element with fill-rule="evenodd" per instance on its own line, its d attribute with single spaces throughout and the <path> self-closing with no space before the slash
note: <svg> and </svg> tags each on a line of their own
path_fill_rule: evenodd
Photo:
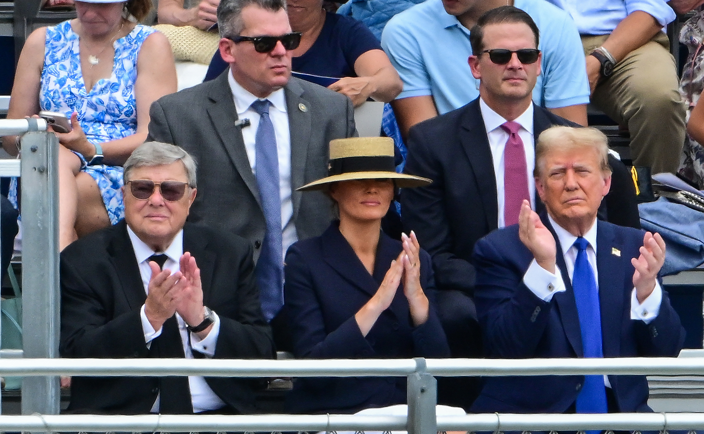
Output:
<svg viewBox="0 0 704 434">
<path fill-rule="evenodd" d="M 545 0 L 515 0 L 514 6 L 531 15 L 540 30 L 543 64 L 534 103 L 546 108 L 589 103 L 584 50 L 570 15 Z M 479 80 L 467 63 L 470 31 L 441 0 L 427 0 L 391 18 L 382 47 L 403 81 L 397 99 L 431 95 L 442 114 L 479 96 Z"/>
</svg>

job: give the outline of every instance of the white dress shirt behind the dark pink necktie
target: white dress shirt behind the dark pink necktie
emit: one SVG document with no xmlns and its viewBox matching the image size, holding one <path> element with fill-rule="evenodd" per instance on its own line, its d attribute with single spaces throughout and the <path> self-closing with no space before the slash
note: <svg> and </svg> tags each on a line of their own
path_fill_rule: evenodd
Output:
<svg viewBox="0 0 704 434">
<path fill-rule="evenodd" d="M 498 227 L 505 226 L 503 219 L 505 188 L 503 186 L 503 155 L 508 140 L 508 132 L 501 128 L 506 120 L 494 110 L 486 105 L 482 98 L 479 98 L 479 110 L 482 112 L 486 136 L 489 139 L 491 148 L 491 158 L 494 160 L 494 176 L 496 177 L 496 199 L 498 204 Z M 535 209 L 535 179 L 533 179 L 533 167 L 535 167 L 535 140 L 533 138 L 533 103 L 513 122 L 517 122 L 521 128 L 518 136 L 523 141 L 523 149 L 526 154 L 526 168 L 528 192 L 530 194 L 531 207 Z"/>
</svg>

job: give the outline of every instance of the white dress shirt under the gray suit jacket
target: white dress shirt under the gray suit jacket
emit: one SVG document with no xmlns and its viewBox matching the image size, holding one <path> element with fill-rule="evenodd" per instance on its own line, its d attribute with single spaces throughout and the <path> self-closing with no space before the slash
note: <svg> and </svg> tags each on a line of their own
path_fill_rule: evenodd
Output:
<svg viewBox="0 0 704 434">
<path fill-rule="evenodd" d="M 246 91 L 239 83 L 234 81 L 232 72 L 227 75 L 227 82 L 230 83 L 234 107 L 237 110 L 237 118 L 249 119 L 249 127 L 242 127 L 242 140 L 247 151 L 249 165 L 256 176 L 256 145 L 255 139 L 257 127 L 259 126 L 259 114 L 250 107 L 252 103 L 259 99 Z M 276 135 L 276 148 L 279 155 L 279 197 L 281 198 L 281 224 L 282 224 L 282 257 L 286 255 L 289 246 L 298 241 L 296 226 L 294 226 L 294 203 L 291 200 L 291 132 L 289 130 L 289 114 L 286 107 L 286 96 L 284 89 L 273 91 L 265 99 L 272 104 L 269 108 L 269 117 L 274 125 Z"/>
</svg>

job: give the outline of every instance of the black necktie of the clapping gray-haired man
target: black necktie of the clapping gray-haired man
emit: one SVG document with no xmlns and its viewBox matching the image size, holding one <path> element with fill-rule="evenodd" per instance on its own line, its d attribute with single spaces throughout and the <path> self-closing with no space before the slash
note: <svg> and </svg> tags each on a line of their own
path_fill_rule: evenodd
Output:
<svg viewBox="0 0 704 434">
<path fill-rule="evenodd" d="M 164 267 L 167 259 L 168 256 L 163 253 L 149 257 L 149 260 L 156 262 L 160 269 Z M 185 357 L 176 315 L 167 319 L 161 326 L 161 335 L 151 341 L 150 353 L 153 357 L 163 359 Z M 159 377 L 159 412 L 162 414 L 193 413 L 188 377 Z"/>
</svg>

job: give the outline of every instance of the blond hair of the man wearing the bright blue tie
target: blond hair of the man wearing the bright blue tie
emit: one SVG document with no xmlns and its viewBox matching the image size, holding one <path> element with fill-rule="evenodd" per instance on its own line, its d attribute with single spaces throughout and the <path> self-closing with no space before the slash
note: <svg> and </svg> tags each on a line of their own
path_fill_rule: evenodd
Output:
<svg viewBox="0 0 704 434">
<path fill-rule="evenodd" d="M 609 165 L 609 145 L 608 138 L 603 132 L 593 127 L 550 127 L 538 136 L 538 143 L 535 146 L 535 168 L 534 177 L 540 177 L 543 163 L 550 153 L 555 149 L 569 151 L 577 148 L 595 148 L 599 154 L 599 165 L 604 173 L 611 173 Z"/>
</svg>

